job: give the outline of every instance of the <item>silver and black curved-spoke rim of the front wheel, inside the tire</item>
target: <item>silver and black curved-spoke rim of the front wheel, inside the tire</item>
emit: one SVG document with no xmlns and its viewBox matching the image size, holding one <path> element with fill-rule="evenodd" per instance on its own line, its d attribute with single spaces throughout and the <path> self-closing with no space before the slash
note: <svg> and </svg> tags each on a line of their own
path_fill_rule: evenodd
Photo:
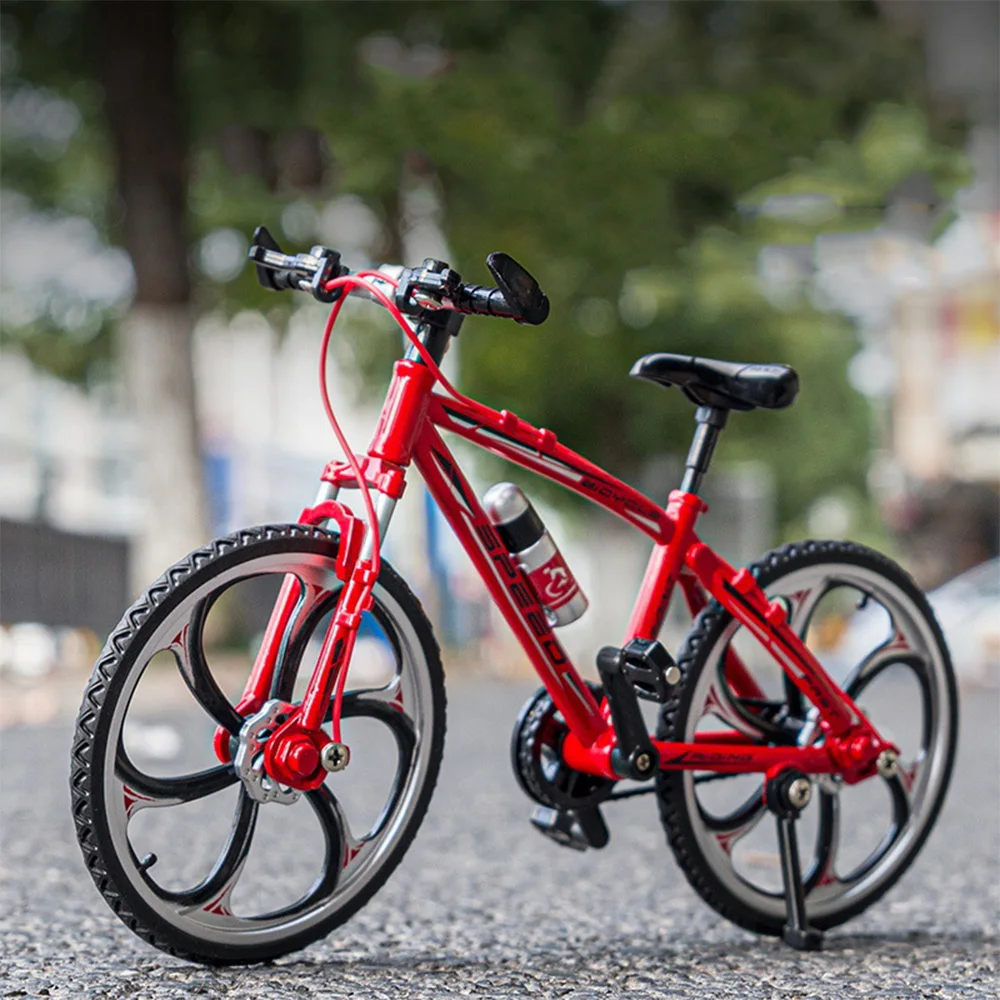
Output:
<svg viewBox="0 0 1000 1000">
<path fill-rule="evenodd" d="M 282 666 L 271 692 L 272 697 L 297 701 L 340 588 L 333 563 L 333 555 L 291 552 L 257 555 L 217 574 L 201 574 L 204 582 L 159 621 L 148 638 L 134 640 L 139 648 L 134 654 L 129 650 L 133 659 L 114 704 L 103 759 L 94 761 L 95 771 L 100 769 L 103 814 L 119 877 L 158 921 L 222 949 L 266 948 L 351 908 L 405 839 L 434 770 L 430 735 L 437 720 L 420 637 L 405 609 L 380 585 L 374 591 L 375 606 L 366 615 L 368 650 L 377 650 L 378 663 L 366 677 L 356 676 L 352 662 L 342 714 L 345 742 L 352 743 L 360 726 L 373 747 L 379 743 L 377 751 L 366 754 L 362 739 L 352 747 L 346 771 L 330 775 L 292 805 L 253 801 L 232 764 L 211 764 L 206 757 L 216 725 L 236 736 L 243 721 L 233 708 L 239 691 L 222 691 L 211 656 L 206 655 L 211 609 L 251 578 L 255 585 L 261 578 L 275 581 L 272 592 L 286 574 L 297 578 L 299 605 L 286 630 Z M 359 641 L 361 664 L 365 646 Z M 153 773 L 131 749 L 136 741 L 130 737 L 135 729 L 130 723 L 134 710 L 139 711 L 133 695 L 147 672 L 156 672 L 147 671 L 154 657 L 163 660 L 166 655 L 175 661 L 201 713 L 192 742 L 200 761 L 208 764 L 180 774 Z M 378 739 L 371 734 L 373 728 L 381 734 Z M 374 764 L 383 773 L 373 782 L 366 768 Z M 352 815 L 351 795 L 344 791 L 352 779 L 352 794 L 362 803 L 360 820 Z M 357 788 L 362 798 L 357 798 Z M 200 806 L 211 813 L 210 819 L 197 818 Z M 166 822 L 175 810 L 188 815 L 182 822 Z M 264 836 L 265 825 L 275 830 Z M 206 857 L 203 833 L 208 826 L 217 846 L 208 849 Z M 266 843 L 258 849 L 262 836 Z M 190 837 L 190 847 L 178 845 L 178 837 Z M 163 871 L 165 853 L 175 861 L 169 872 Z M 200 855 L 197 860 L 195 854 Z M 302 864 L 304 858 L 308 864 Z M 251 868 L 253 884 L 244 888 Z M 290 889 L 297 869 L 310 869 L 308 884 Z"/>
</svg>

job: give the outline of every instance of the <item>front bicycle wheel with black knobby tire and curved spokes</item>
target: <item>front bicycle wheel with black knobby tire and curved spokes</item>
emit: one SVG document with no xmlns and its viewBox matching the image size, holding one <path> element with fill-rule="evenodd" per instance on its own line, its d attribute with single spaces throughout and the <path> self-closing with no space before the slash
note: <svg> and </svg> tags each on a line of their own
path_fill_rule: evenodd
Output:
<svg viewBox="0 0 1000 1000">
<path fill-rule="evenodd" d="M 125 613 L 94 667 L 73 743 L 77 835 L 111 908 L 171 954 L 257 962 L 325 936 L 386 881 L 427 810 L 444 742 L 440 654 L 385 562 L 347 677 L 347 769 L 262 804 L 214 754 L 219 726 L 236 746 L 247 640 L 260 643 L 285 580 L 297 605 L 270 697 L 301 700 L 341 588 L 337 545 L 277 525 L 191 553 Z"/>
</svg>

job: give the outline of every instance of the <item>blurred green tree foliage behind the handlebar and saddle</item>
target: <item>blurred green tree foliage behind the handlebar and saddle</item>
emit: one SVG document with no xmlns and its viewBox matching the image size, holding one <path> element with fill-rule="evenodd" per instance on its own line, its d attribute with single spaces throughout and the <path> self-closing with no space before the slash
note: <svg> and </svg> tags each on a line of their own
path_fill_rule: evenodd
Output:
<svg viewBox="0 0 1000 1000">
<path fill-rule="evenodd" d="M 98 8 L 115 6 L 0 5 L 3 187 L 53 226 L 91 227 L 95 246 L 122 242 L 127 207 L 101 82 L 116 53 Z M 338 246 L 339 196 L 341 213 L 369 220 L 355 250 L 396 261 L 406 206 L 425 192 L 467 280 L 485 282 L 486 253 L 503 249 L 552 300 L 541 329 L 466 323 L 465 391 L 642 483 L 651 458 L 683 454 L 692 423 L 680 394 L 630 382 L 637 357 L 790 363 L 795 408 L 735 419 L 723 458 L 768 463 L 785 530 L 831 491 L 860 502 L 870 420 L 845 374 L 854 329 L 822 302 L 768 301 L 756 269 L 765 244 L 872 228 L 914 173 L 943 196 L 967 179 L 961 123 L 932 115 L 917 44 L 875 4 L 167 7 L 199 311 L 257 307 L 282 325 L 295 304 L 240 266 L 255 225 L 297 249 Z M 828 202 L 813 216 L 759 211 L 796 193 Z M 212 266 L 220 254 L 232 266 Z M 49 296 L 33 314 L 5 311 L 3 333 L 62 377 L 106 377 L 122 308 Z M 379 388 L 397 340 L 356 348 Z"/>
</svg>

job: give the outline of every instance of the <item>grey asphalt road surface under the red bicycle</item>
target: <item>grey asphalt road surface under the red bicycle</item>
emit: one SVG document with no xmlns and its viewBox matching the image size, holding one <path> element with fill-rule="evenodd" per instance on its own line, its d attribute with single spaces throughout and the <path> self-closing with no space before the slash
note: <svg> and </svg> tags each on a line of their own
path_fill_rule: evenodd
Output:
<svg viewBox="0 0 1000 1000">
<path fill-rule="evenodd" d="M 206 969 L 134 937 L 84 870 L 68 805 L 68 720 L 2 734 L 0 997 L 963 997 L 998 992 L 998 693 L 966 691 L 943 817 L 880 903 L 799 954 L 688 888 L 647 797 L 580 854 L 527 823 L 507 742 L 525 685 L 449 684 L 430 812 L 388 885 L 274 965 Z"/>
</svg>

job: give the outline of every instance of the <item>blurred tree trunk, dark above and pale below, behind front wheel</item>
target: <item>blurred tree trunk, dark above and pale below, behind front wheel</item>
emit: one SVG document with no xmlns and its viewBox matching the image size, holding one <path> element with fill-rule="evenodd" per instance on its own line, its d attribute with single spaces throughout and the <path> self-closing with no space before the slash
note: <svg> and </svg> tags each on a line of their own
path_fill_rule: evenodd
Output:
<svg viewBox="0 0 1000 1000">
<path fill-rule="evenodd" d="M 100 0 L 96 13 L 122 237 L 136 278 L 120 336 L 142 449 L 146 514 L 132 575 L 133 585 L 144 587 L 209 534 L 191 356 L 177 5 Z"/>
</svg>

